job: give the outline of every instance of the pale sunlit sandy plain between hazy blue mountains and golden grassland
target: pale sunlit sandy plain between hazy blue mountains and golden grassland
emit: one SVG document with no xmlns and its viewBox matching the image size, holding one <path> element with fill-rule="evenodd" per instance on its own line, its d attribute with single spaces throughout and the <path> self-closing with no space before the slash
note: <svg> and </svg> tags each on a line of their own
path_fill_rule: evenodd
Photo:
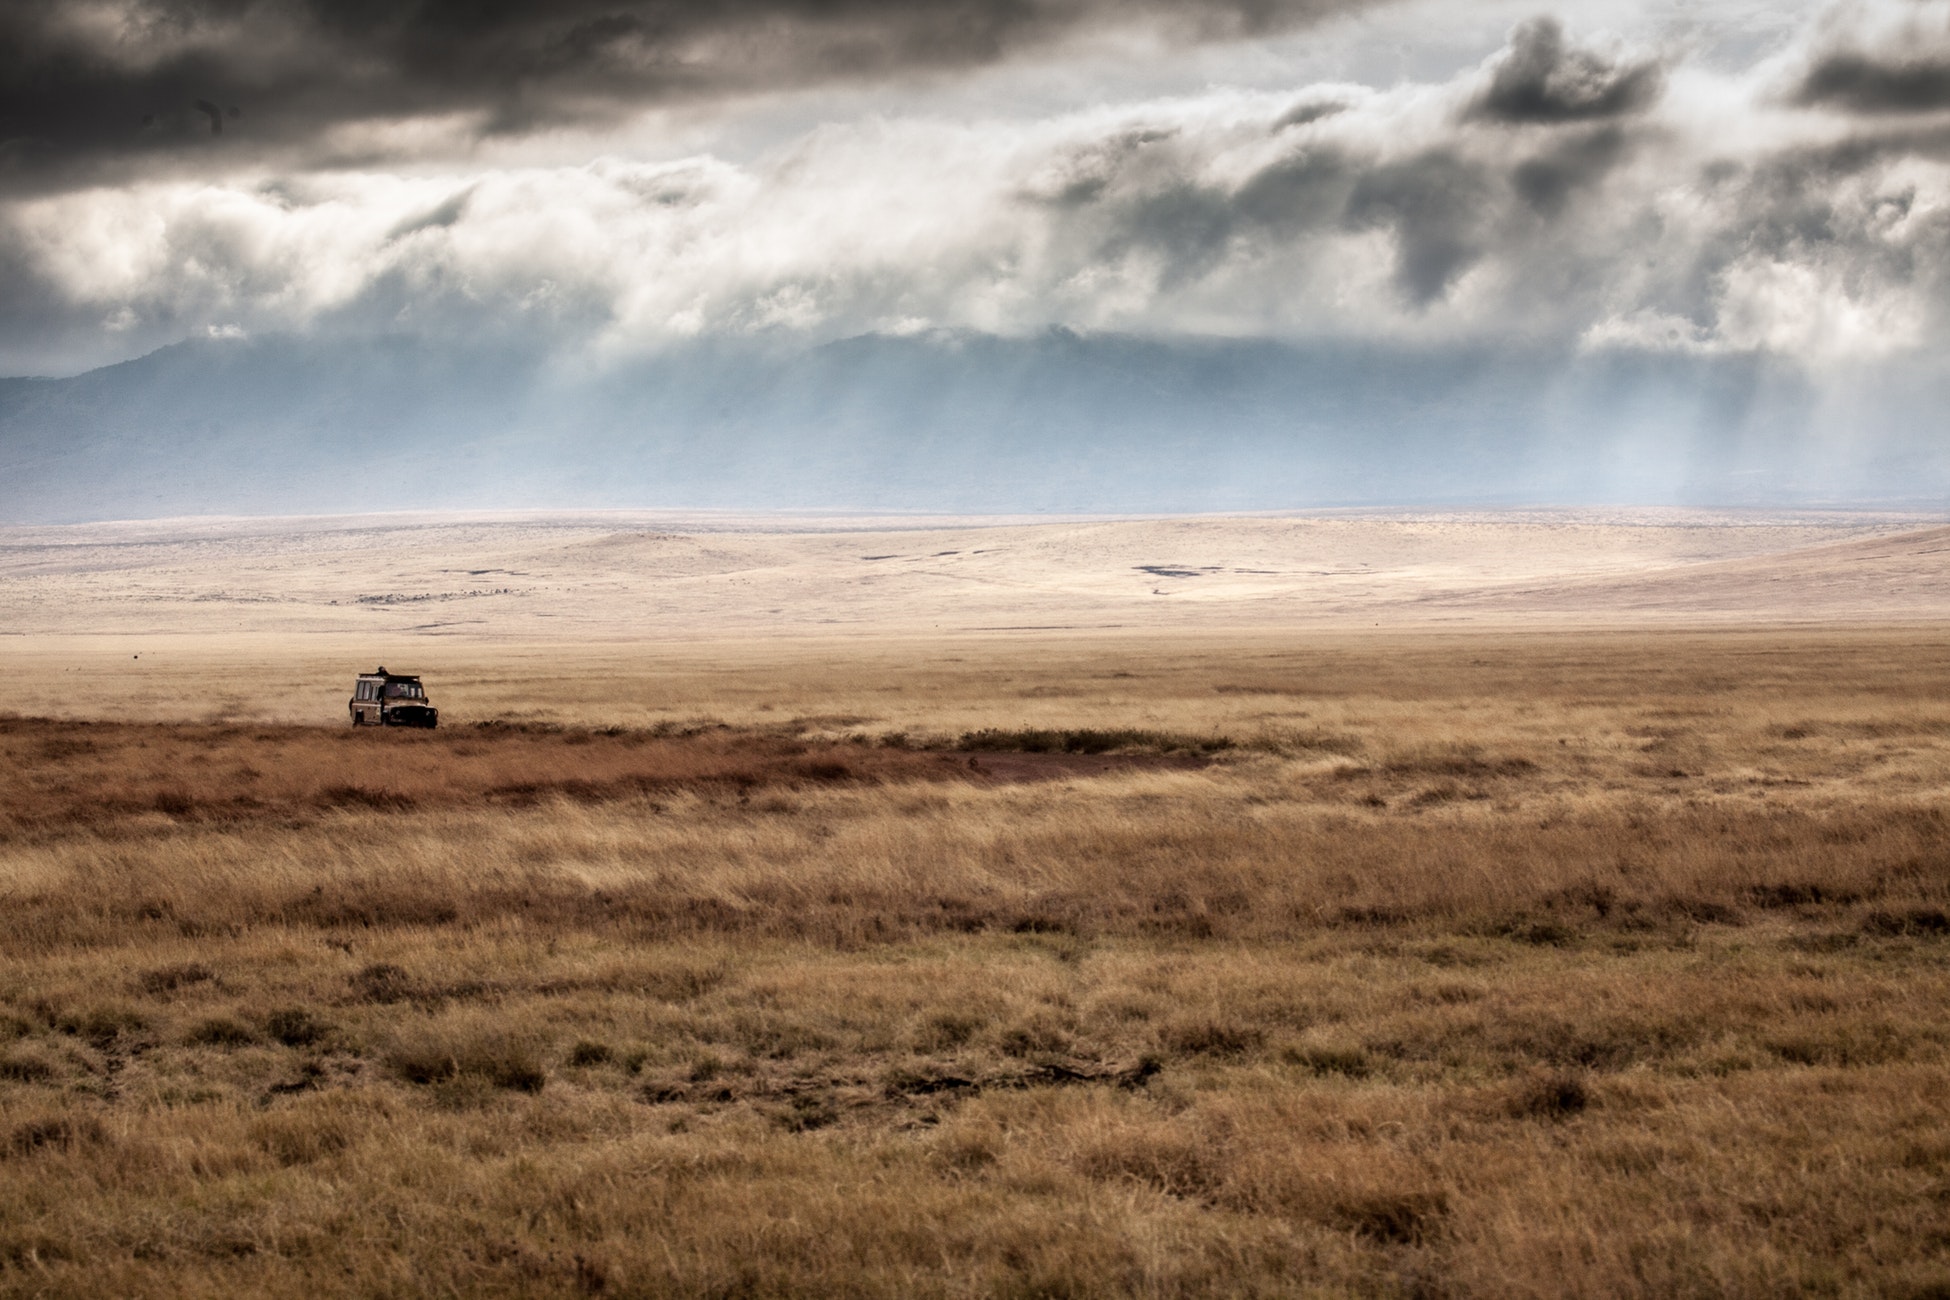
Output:
<svg viewBox="0 0 1950 1300">
<path fill-rule="evenodd" d="M 1950 614 L 1950 516 L 370 515 L 0 528 L 10 635 L 488 639 Z"/>
</svg>

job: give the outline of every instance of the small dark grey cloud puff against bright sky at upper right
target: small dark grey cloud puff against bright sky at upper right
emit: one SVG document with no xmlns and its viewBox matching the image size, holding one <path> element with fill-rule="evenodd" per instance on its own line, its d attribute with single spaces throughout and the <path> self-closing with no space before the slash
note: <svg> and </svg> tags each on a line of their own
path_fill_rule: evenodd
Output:
<svg viewBox="0 0 1950 1300">
<path fill-rule="evenodd" d="M 1615 62 L 1564 39 L 1554 18 L 1533 18 L 1509 37 L 1490 86 L 1470 113 L 1505 123 L 1578 123 L 1652 107 L 1665 90 L 1654 60 Z"/>
</svg>

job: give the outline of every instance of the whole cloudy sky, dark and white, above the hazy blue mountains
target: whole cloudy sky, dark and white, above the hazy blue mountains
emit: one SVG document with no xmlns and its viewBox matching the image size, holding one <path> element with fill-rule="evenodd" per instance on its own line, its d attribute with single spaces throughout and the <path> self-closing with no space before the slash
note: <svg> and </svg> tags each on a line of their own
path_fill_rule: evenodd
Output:
<svg viewBox="0 0 1950 1300">
<path fill-rule="evenodd" d="M 1927 388 L 1946 164 L 1944 0 L 8 0 L 0 374 L 1067 329 Z"/>
</svg>

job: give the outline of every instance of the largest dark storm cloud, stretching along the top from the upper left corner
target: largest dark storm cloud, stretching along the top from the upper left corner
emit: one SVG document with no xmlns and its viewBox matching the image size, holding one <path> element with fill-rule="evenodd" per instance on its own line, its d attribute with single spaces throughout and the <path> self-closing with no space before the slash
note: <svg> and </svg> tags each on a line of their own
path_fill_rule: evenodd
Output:
<svg viewBox="0 0 1950 1300">
<path fill-rule="evenodd" d="M 213 148 L 289 154 L 347 123 L 484 133 L 653 103 L 969 68 L 1096 29 L 1269 33 L 1379 0 L 62 0 L 0 6 L 0 177 Z M 214 138 L 220 136 L 220 138 Z M 113 166 L 109 175 L 113 175 Z"/>
</svg>

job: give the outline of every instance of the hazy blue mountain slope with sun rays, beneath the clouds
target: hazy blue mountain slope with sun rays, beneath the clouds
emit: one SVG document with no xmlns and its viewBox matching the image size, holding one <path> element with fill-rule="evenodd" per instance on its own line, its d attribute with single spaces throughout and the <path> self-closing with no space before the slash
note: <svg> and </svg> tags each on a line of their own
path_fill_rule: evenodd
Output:
<svg viewBox="0 0 1950 1300">
<path fill-rule="evenodd" d="M 413 339 L 0 380 L 0 520 L 507 507 L 1213 511 L 1925 499 L 1940 439 L 1755 359 L 1051 331 L 700 343 L 593 376 Z M 1837 446 L 1841 450 L 1837 450 Z"/>
</svg>

